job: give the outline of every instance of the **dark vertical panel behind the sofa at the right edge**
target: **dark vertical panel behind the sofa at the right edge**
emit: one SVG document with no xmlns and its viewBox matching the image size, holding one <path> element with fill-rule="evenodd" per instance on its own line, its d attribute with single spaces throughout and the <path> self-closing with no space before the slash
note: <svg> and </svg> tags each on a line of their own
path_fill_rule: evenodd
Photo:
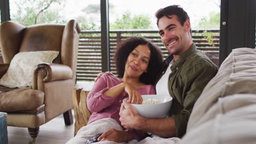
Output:
<svg viewBox="0 0 256 144">
<path fill-rule="evenodd" d="M 254 0 L 221 1 L 219 65 L 232 49 L 255 48 L 255 8 Z"/>
</svg>

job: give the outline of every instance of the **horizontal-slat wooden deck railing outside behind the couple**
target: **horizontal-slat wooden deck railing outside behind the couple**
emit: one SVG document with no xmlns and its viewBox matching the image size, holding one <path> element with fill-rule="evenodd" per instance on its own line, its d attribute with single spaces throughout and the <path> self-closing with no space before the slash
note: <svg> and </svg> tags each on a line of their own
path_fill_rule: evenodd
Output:
<svg viewBox="0 0 256 144">
<path fill-rule="evenodd" d="M 158 31 L 146 30 L 119 30 L 110 31 L 110 71 L 116 73 L 113 60 L 116 45 L 131 36 L 140 36 L 149 39 L 158 45 L 164 57 L 168 55 L 162 44 Z M 219 29 L 194 30 L 193 41 L 199 50 L 209 53 L 210 57 L 219 56 Z M 77 81 L 93 81 L 101 73 L 101 32 L 82 31 L 79 39 Z"/>
</svg>

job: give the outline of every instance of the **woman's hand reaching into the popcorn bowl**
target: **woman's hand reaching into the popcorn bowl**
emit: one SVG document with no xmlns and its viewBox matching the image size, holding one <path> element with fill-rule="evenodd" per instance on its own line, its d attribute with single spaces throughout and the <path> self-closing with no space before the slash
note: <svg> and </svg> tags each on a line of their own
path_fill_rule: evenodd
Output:
<svg viewBox="0 0 256 144">
<path fill-rule="evenodd" d="M 130 103 L 130 104 L 142 104 L 143 99 L 141 97 L 141 94 L 130 83 L 126 83 L 124 90 L 129 95 L 128 103 Z"/>
</svg>

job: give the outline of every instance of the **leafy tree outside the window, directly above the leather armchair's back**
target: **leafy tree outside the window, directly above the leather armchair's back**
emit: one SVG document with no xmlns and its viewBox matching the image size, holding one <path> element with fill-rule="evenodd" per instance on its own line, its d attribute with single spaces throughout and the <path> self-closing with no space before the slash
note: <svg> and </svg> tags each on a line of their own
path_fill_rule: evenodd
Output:
<svg viewBox="0 0 256 144">
<path fill-rule="evenodd" d="M 51 9 L 53 4 L 63 7 L 63 0 L 19 0 L 15 1 L 17 13 L 11 15 L 11 20 L 24 26 L 36 23 L 66 23 L 58 12 Z"/>
</svg>

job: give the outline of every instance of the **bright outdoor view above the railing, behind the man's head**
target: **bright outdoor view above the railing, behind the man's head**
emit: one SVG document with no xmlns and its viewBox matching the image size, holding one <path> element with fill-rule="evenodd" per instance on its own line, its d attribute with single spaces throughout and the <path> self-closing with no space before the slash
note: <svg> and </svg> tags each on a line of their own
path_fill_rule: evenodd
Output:
<svg viewBox="0 0 256 144">
<path fill-rule="evenodd" d="M 219 29 L 219 0 L 162 0 L 161 2 L 147 0 L 109 0 L 110 29 L 158 30 L 155 12 L 160 8 L 173 4 L 181 5 L 187 11 L 190 16 L 192 29 Z M 143 7 L 142 5 L 147 6 Z"/>
</svg>

